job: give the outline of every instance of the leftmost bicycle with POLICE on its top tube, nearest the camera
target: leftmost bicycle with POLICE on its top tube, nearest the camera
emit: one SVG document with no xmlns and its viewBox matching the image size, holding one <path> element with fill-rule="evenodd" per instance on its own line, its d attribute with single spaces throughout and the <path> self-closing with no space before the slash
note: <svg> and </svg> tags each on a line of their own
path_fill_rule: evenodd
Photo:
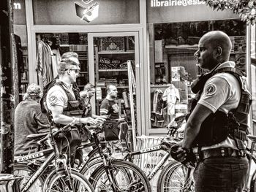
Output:
<svg viewBox="0 0 256 192">
<path fill-rule="evenodd" d="M 26 192 L 32 189 L 33 191 L 41 191 L 41 188 L 43 192 L 94 191 L 94 188 L 82 174 L 70 168 L 69 164 L 67 164 L 67 156 L 62 155 L 56 146 L 55 137 L 61 132 L 70 131 L 72 126 L 74 126 L 74 121 L 63 128 L 59 128 L 59 130 L 54 133 L 50 128 L 49 134 L 29 135 L 31 139 L 37 140 L 39 146 L 48 145 L 50 147 L 29 155 L 15 158 L 15 171 L 25 172 L 28 174 L 26 175 L 27 177 L 15 181 L 15 191 Z M 42 164 L 34 164 L 33 162 L 31 164 L 21 164 L 22 162 L 42 157 L 45 158 L 45 161 L 42 162 Z M 52 164 L 52 162 L 54 163 Z M 51 177 L 43 176 L 44 173 L 48 174 L 48 172 L 50 172 L 49 175 Z M 45 181 L 47 181 L 47 183 L 45 183 Z"/>
</svg>

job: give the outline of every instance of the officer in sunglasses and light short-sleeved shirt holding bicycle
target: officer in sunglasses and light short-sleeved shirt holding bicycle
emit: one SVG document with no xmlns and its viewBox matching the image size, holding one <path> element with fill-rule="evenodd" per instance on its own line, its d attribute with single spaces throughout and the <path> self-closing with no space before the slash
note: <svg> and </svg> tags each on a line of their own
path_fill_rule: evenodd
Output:
<svg viewBox="0 0 256 192">
<path fill-rule="evenodd" d="M 78 61 L 75 62 L 70 58 L 62 59 L 58 67 L 59 79 L 49 89 L 46 96 L 48 110 L 50 110 L 57 127 L 67 125 L 75 120 L 75 127 L 67 135 L 69 138 L 72 164 L 75 160 L 76 148 L 80 145 L 80 131 L 78 131 L 78 126 L 86 123 L 90 123 L 91 125 L 103 123 L 102 118 L 81 118 L 83 114 L 83 102 L 80 99 L 77 89 L 74 89 L 72 86 L 79 72 L 80 67 Z M 67 147 L 69 149 L 67 143 L 64 143 L 64 141 L 65 139 L 59 143 L 61 145 L 59 147 Z"/>
</svg>

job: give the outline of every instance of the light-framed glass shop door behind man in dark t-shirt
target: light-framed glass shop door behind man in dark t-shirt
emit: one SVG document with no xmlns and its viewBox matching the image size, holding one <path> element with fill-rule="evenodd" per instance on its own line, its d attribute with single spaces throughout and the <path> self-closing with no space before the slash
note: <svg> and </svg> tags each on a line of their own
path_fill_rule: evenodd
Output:
<svg viewBox="0 0 256 192">
<path fill-rule="evenodd" d="M 140 124 L 138 33 L 89 34 L 90 45 L 94 45 L 89 48 L 90 82 L 96 86 L 94 113 L 100 115 L 108 85 L 114 85 L 118 92 L 114 99 L 118 117 L 127 120 L 128 141 L 132 144 Z"/>
</svg>

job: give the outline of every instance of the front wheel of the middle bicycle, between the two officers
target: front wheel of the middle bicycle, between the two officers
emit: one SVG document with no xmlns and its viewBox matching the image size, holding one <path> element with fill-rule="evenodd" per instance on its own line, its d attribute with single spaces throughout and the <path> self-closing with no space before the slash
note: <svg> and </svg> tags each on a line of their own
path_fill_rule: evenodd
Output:
<svg viewBox="0 0 256 192">
<path fill-rule="evenodd" d="M 146 191 L 151 192 L 151 186 L 146 174 L 135 164 L 128 161 L 111 161 L 113 164 L 113 178 L 117 191 Z M 111 182 L 103 165 L 99 166 L 89 180 L 96 192 L 113 191 Z M 115 192 L 115 191 L 113 191 Z"/>
</svg>

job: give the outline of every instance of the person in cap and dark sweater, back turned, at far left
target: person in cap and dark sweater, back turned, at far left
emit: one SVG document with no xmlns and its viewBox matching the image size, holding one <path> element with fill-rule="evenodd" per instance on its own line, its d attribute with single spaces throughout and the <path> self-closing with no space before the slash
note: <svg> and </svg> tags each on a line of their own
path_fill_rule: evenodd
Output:
<svg viewBox="0 0 256 192">
<path fill-rule="evenodd" d="M 37 151 L 37 143 L 27 139 L 27 135 L 48 132 L 48 118 L 42 113 L 39 104 L 41 97 L 39 85 L 31 84 L 23 101 L 15 108 L 15 156 Z"/>
</svg>

